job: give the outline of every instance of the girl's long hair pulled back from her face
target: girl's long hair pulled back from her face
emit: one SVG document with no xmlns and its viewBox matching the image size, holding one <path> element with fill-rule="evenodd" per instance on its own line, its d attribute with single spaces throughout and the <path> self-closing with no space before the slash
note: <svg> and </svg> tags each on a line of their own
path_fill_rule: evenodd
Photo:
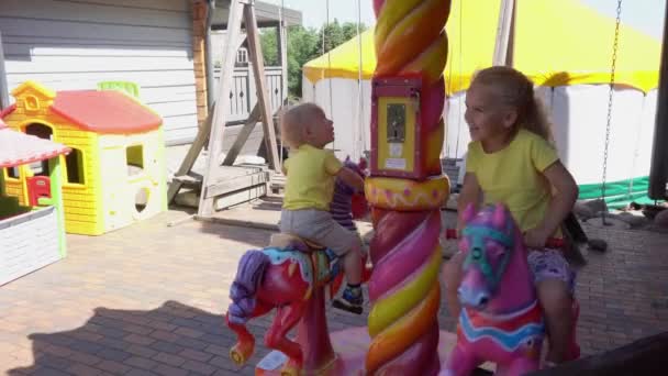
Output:
<svg viewBox="0 0 668 376">
<path fill-rule="evenodd" d="M 515 108 L 515 129 L 524 128 L 554 144 L 552 124 L 543 101 L 534 92 L 534 82 L 521 71 L 505 66 L 486 68 L 476 74 L 471 87 L 474 85 L 496 89 L 503 104 Z"/>
</svg>

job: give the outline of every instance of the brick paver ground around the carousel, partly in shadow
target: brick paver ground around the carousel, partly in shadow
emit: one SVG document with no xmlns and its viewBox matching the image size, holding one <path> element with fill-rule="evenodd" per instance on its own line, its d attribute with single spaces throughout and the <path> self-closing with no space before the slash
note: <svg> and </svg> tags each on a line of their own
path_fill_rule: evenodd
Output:
<svg viewBox="0 0 668 376">
<path fill-rule="evenodd" d="M 104 236 L 68 236 L 69 255 L 0 287 L 0 371 L 10 375 L 236 375 L 223 324 L 241 255 L 269 232 L 187 221 L 170 211 Z M 587 229 L 592 236 L 602 234 Z M 578 297 L 580 342 L 600 352 L 668 330 L 668 236 L 615 232 L 588 255 Z M 366 318 L 331 311 L 332 330 Z M 269 319 L 252 363 L 267 353 Z M 442 328 L 454 321 L 445 308 Z"/>
</svg>

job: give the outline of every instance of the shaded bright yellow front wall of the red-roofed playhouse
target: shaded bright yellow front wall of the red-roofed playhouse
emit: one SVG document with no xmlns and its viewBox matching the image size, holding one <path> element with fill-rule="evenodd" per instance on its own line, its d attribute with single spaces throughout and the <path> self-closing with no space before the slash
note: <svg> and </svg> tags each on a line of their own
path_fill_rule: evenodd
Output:
<svg viewBox="0 0 668 376">
<path fill-rule="evenodd" d="M 97 192 L 100 190 L 98 135 L 70 125 L 65 119 L 51 113 L 46 108 L 38 111 L 25 111 L 20 98 L 16 100 L 16 109 L 4 118 L 4 122 L 21 132 L 31 123 L 47 125 L 53 130 L 53 141 L 81 151 L 85 164 L 84 185 L 67 181 L 65 156 L 60 156 L 65 230 L 68 233 L 87 235 L 103 233 L 103 217 L 97 198 L 99 196 Z M 25 195 L 22 181 L 9 179 L 7 190 L 8 195 L 19 197 L 23 203 Z"/>
</svg>

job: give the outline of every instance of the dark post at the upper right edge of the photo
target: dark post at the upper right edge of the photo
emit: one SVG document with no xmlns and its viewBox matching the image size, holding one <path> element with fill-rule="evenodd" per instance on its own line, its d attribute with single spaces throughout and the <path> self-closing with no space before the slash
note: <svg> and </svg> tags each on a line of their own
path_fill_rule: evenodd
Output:
<svg viewBox="0 0 668 376">
<path fill-rule="evenodd" d="M 668 2 L 665 19 L 668 20 Z M 664 23 L 664 43 L 661 47 L 661 67 L 659 70 L 659 90 L 657 95 L 656 122 L 654 123 L 654 143 L 652 147 L 652 167 L 649 169 L 649 188 L 647 193 L 654 200 L 666 199 L 668 175 L 668 24 Z"/>
</svg>

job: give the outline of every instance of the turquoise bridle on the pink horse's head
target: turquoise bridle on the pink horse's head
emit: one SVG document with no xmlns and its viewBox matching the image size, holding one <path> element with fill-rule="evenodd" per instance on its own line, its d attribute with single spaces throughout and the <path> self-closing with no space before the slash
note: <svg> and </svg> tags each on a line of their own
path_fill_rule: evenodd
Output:
<svg viewBox="0 0 668 376">
<path fill-rule="evenodd" d="M 501 231 L 482 225 L 468 225 L 464 229 L 463 235 L 470 237 L 471 242 L 468 255 L 464 261 L 464 268 L 466 269 L 471 265 L 478 266 L 488 281 L 490 292 L 493 294 L 497 290 L 501 278 L 503 277 L 508 263 L 510 262 L 510 256 L 513 250 L 513 239 Z M 487 253 L 485 252 L 486 240 L 492 240 L 508 248 L 503 253 L 503 258 L 501 259 L 501 264 L 499 264 L 496 273 L 492 270 L 492 266 L 489 264 Z"/>
</svg>

